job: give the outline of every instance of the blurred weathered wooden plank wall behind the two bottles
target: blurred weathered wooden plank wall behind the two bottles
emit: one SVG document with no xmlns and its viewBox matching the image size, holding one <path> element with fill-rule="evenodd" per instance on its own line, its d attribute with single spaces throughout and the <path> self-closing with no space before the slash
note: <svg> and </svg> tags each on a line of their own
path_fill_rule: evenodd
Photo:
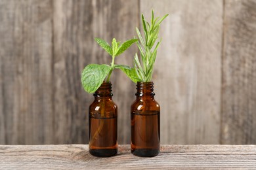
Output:
<svg viewBox="0 0 256 170">
<path fill-rule="evenodd" d="M 93 95 L 80 74 L 111 62 L 93 37 L 133 38 L 152 8 L 170 14 L 154 71 L 161 143 L 256 144 L 253 0 L 1 0 L 0 144 L 87 143 Z M 119 71 L 112 83 L 119 143 L 129 143 L 135 84 Z"/>
</svg>

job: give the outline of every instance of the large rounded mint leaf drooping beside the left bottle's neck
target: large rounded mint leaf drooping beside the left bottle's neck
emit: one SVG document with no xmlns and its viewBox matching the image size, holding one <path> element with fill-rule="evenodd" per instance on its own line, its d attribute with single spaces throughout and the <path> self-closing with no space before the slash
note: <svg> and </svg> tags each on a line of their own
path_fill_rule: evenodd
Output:
<svg viewBox="0 0 256 170">
<path fill-rule="evenodd" d="M 87 65 L 82 72 L 81 82 L 83 88 L 88 93 L 95 92 L 102 82 L 106 75 L 110 72 L 111 67 L 106 64 L 98 65 L 98 64 L 89 64 Z"/>
</svg>

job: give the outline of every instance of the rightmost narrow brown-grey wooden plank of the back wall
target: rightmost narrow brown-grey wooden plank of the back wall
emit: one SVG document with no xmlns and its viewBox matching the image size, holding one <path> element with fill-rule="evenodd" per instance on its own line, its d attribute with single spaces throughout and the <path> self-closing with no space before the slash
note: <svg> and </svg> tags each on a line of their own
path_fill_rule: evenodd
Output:
<svg viewBox="0 0 256 170">
<path fill-rule="evenodd" d="M 225 1 L 221 143 L 256 143 L 256 2 Z"/>
</svg>

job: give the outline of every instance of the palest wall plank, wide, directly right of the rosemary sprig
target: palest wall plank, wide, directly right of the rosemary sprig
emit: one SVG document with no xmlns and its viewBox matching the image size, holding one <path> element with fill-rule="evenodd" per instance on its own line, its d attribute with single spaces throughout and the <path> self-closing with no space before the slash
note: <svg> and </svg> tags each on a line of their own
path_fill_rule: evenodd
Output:
<svg viewBox="0 0 256 170">
<path fill-rule="evenodd" d="M 161 143 L 218 144 L 221 110 L 223 2 L 140 1 L 161 24 L 153 80 L 161 106 Z"/>
</svg>

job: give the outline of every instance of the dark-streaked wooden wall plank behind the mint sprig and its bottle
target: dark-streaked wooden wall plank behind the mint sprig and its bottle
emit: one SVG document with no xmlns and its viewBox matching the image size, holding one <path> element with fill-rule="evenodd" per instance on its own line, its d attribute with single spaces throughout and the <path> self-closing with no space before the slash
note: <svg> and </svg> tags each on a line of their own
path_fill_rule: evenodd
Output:
<svg viewBox="0 0 256 170">
<path fill-rule="evenodd" d="M 88 143 L 88 108 L 93 95 L 81 87 L 81 71 L 89 63 L 111 63 L 94 37 L 111 42 L 133 38 L 138 24 L 133 1 L 54 1 L 54 143 Z M 133 46 L 117 63 L 131 64 Z M 125 56 L 125 57 L 124 57 Z M 122 73 L 112 75 L 118 106 L 119 143 L 129 143 L 129 110 L 135 87 Z"/>
</svg>

